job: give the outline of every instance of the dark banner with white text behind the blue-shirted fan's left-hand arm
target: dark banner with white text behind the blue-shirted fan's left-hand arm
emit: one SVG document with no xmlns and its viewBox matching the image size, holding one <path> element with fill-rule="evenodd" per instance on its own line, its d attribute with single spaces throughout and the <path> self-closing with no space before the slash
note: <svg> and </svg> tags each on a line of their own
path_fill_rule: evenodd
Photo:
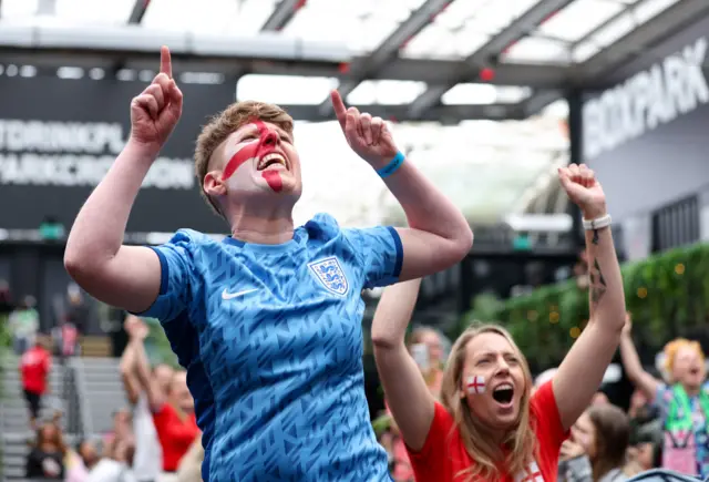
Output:
<svg viewBox="0 0 709 482">
<path fill-rule="evenodd" d="M 147 84 L 0 75 L 0 228 L 66 228 L 130 134 L 130 103 Z M 151 167 L 130 233 L 189 227 L 228 230 L 199 197 L 194 145 L 209 116 L 234 101 L 234 85 L 181 84 L 183 115 Z"/>
</svg>

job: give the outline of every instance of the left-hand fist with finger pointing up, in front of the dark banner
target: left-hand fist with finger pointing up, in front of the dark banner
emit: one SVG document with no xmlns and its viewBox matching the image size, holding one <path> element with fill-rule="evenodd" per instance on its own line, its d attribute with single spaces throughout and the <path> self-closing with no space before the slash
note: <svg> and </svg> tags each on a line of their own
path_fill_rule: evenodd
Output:
<svg viewBox="0 0 709 482">
<path fill-rule="evenodd" d="M 158 152 L 182 115 L 182 92 L 173 80 L 169 50 L 160 52 L 160 73 L 131 102 L 131 140 Z"/>
</svg>

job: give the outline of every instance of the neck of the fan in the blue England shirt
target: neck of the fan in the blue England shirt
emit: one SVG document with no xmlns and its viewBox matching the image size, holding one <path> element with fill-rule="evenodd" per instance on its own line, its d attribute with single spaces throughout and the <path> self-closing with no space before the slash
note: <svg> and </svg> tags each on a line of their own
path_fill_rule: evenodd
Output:
<svg viewBox="0 0 709 482">
<path fill-rule="evenodd" d="M 235 206 L 228 214 L 232 237 L 260 245 L 279 245 L 292 239 L 291 208 L 247 209 Z"/>
</svg>

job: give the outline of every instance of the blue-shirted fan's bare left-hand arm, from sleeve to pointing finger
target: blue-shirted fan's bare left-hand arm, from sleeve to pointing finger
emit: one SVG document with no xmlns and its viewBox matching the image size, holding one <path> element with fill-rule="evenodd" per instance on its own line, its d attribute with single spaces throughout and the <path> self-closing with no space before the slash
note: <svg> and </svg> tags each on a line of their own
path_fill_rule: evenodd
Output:
<svg viewBox="0 0 709 482">
<path fill-rule="evenodd" d="M 131 136 L 106 176 L 79 212 L 66 240 L 64 266 L 89 294 L 130 311 L 147 309 L 160 291 L 161 264 L 150 248 L 123 246 L 141 184 L 182 113 L 169 51 L 161 73 L 131 102 Z"/>
</svg>

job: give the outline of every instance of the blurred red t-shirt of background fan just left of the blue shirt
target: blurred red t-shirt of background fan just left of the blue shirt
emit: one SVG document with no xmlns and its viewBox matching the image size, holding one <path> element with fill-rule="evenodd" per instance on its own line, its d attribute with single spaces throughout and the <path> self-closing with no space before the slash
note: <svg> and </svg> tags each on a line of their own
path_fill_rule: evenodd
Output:
<svg viewBox="0 0 709 482">
<path fill-rule="evenodd" d="M 199 434 L 195 414 L 191 413 L 182 419 L 173 406 L 165 403 L 153 413 L 153 423 L 163 448 L 163 470 L 175 472 L 179 461 Z"/>
</svg>

